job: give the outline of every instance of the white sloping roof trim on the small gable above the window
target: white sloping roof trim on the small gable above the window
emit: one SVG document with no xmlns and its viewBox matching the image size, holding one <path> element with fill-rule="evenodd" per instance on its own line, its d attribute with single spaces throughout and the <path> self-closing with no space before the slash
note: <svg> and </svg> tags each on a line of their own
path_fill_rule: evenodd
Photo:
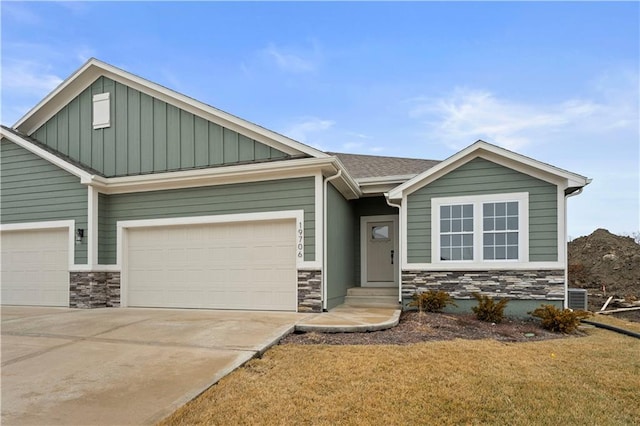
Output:
<svg viewBox="0 0 640 426">
<path fill-rule="evenodd" d="M 389 198 L 394 200 L 402 199 L 403 195 L 411 194 L 478 157 L 533 176 L 545 182 L 553 183 L 562 189 L 583 187 L 591 181 L 584 176 L 568 172 L 496 145 L 478 141 L 391 190 L 389 192 Z"/>
</svg>

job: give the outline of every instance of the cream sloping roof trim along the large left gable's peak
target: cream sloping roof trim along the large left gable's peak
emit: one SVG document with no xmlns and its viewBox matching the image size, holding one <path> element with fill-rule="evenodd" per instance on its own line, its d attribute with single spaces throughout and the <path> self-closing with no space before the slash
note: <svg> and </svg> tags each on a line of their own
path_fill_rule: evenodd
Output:
<svg viewBox="0 0 640 426">
<path fill-rule="evenodd" d="M 20 131 L 25 134 L 33 133 L 100 76 L 125 84 L 149 96 L 204 118 L 205 120 L 269 145 L 286 154 L 306 154 L 315 158 L 329 157 L 328 154 L 315 148 L 296 142 L 286 136 L 267 130 L 264 127 L 243 120 L 95 58 L 87 61 L 79 70 L 63 81 L 38 105 L 18 120 L 13 127 L 20 129 Z"/>
</svg>

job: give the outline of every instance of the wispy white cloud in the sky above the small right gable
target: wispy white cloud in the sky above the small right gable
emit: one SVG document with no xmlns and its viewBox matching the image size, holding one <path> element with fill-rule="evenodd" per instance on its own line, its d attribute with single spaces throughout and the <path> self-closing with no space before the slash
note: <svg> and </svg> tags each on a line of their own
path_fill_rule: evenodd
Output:
<svg viewBox="0 0 640 426">
<path fill-rule="evenodd" d="M 519 150 L 554 135 L 638 128 L 637 78 L 594 84 L 593 93 L 536 104 L 499 97 L 488 90 L 456 88 L 440 98 L 415 98 L 411 118 L 423 121 L 429 138 L 453 149 L 484 139 Z M 620 90 L 621 85 L 626 86 Z M 635 99 L 635 101 L 634 101 Z"/>
</svg>

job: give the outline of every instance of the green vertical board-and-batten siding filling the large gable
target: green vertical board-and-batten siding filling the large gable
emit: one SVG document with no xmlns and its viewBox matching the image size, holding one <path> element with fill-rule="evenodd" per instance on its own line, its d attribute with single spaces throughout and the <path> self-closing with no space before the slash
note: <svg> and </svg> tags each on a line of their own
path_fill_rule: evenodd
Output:
<svg viewBox="0 0 640 426">
<path fill-rule="evenodd" d="M 93 129 L 93 95 L 110 93 L 111 125 Z M 189 170 L 287 155 L 106 77 L 33 132 L 107 177 Z"/>
</svg>

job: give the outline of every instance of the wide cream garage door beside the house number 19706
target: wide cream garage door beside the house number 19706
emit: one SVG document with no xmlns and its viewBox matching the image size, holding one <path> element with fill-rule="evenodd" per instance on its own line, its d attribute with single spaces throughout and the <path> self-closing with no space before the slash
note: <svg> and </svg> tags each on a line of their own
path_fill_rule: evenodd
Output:
<svg viewBox="0 0 640 426">
<path fill-rule="evenodd" d="M 128 306 L 296 309 L 292 220 L 126 232 Z"/>
</svg>

